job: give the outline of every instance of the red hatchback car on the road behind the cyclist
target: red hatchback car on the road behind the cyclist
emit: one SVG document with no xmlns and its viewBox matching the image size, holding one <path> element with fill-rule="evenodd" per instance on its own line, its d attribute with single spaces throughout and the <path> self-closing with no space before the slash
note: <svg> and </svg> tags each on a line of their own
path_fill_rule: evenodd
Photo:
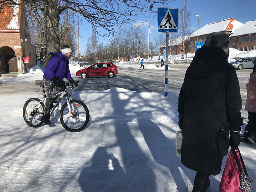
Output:
<svg viewBox="0 0 256 192">
<path fill-rule="evenodd" d="M 83 79 L 92 76 L 114 77 L 116 74 L 118 74 L 117 66 L 113 63 L 95 63 L 76 72 L 76 76 L 81 76 Z"/>
</svg>

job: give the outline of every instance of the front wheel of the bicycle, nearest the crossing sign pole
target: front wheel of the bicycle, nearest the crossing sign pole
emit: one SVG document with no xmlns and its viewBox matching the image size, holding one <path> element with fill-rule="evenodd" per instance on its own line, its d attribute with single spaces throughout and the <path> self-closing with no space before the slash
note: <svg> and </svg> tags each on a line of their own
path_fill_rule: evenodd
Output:
<svg viewBox="0 0 256 192">
<path fill-rule="evenodd" d="M 60 122 L 70 132 L 82 131 L 88 124 L 90 114 L 87 106 L 80 100 L 70 100 L 71 111 L 66 102 L 60 109 Z"/>
</svg>

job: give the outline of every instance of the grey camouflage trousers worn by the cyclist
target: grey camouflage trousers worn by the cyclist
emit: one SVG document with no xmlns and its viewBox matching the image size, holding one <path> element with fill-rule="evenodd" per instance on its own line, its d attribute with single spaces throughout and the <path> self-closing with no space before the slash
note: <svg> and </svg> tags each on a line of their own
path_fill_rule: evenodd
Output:
<svg viewBox="0 0 256 192">
<path fill-rule="evenodd" d="M 53 94 L 56 92 L 59 92 L 62 90 L 62 87 L 57 85 L 54 85 L 54 82 L 48 80 L 48 79 L 44 79 L 43 78 L 43 82 L 44 82 L 44 90 L 46 93 L 46 101 L 44 104 L 44 115 L 49 114 L 49 108 L 52 102 L 57 102 L 58 99 L 60 98 L 60 96 L 56 96 L 53 98 Z"/>
</svg>

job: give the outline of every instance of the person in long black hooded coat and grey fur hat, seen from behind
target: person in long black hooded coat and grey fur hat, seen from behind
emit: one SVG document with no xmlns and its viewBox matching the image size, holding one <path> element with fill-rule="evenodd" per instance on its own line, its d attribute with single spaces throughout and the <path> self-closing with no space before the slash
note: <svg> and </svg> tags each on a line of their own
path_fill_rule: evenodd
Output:
<svg viewBox="0 0 256 192">
<path fill-rule="evenodd" d="M 210 34 L 196 51 L 180 90 L 181 163 L 197 172 L 192 192 L 206 191 L 209 176 L 220 174 L 228 146 L 240 144 L 242 99 L 236 71 L 228 64 L 229 47 L 228 34 Z"/>
</svg>

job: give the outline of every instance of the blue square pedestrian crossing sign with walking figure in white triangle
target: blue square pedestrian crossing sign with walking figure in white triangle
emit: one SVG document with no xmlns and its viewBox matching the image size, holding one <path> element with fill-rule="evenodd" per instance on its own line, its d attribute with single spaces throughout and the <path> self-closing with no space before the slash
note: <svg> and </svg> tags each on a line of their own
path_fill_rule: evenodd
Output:
<svg viewBox="0 0 256 192">
<path fill-rule="evenodd" d="M 157 32 L 158 33 L 178 33 L 178 8 L 158 7 Z"/>
</svg>

